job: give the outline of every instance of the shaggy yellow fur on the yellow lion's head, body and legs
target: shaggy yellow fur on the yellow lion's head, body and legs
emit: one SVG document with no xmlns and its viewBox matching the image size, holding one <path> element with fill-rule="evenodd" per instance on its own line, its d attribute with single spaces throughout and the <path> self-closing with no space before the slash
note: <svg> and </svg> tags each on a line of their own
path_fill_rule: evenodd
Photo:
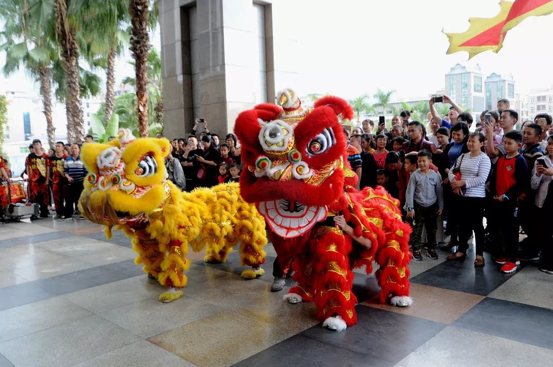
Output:
<svg viewBox="0 0 553 367">
<path fill-rule="evenodd" d="M 91 173 L 99 173 L 96 158 L 109 146 L 86 144 L 83 160 Z M 135 169 L 146 154 L 153 156 L 158 171 L 138 176 Z M 127 144 L 122 154 L 124 178 L 139 188 L 151 187 L 142 196 L 135 197 L 117 187 L 92 191 L 94 187 L 85 182 L 81 198 L 86 212 L 108 213 L 108 219 L 93 218 L 101 224 L 116 220 L 116 212 L 143 213 L 148 218 L 144 229 L 133 229 L 127 223 L 112 225 L 132 238 L 137 253 L 135 263 L 143 264 L 144 271 L 155 276 L 162 285 L 186 285 L 184 271 L 190 268 L 190 261 L 186 259 L 189 245 L 194 251 L 206 247 L 208 260 L 225 261 L 232 248 L 240 244 L 242 264 L 263 263 L 263 247 L 267 244 L 265 221 L 254 205 L 244 202 L 238 183 L 181 192 L 172 182 L 165 181 L 164 157 L 168 154 L 169 141 L 166 139 L 139 138 Z M 108 226 L 105 233 L 108 237 L 111 235 Z M 176 243 L 180 251 L 174 250 Z M 259 276 L 259 273 L 251 273 L 253 277 Z"/>
</svg>

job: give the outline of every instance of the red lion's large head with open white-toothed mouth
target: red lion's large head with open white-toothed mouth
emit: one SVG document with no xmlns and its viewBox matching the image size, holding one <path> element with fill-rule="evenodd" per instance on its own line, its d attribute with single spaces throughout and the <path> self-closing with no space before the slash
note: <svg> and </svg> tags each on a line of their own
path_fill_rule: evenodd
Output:
<svg viewBox="0 0 553 367">
<path fill-rule="evenodd" d="M 259 104 L 236 120 L 246 164 L 240 187 L 276 234 L 293 238 L 324 220 L 345 185 L 355 183 L 338 122 L 351 119 L 353 111 L 332 96 L 305 109 L 291 90 L 279 92 L 277 101 L 280 106 Z"/>
</svg>

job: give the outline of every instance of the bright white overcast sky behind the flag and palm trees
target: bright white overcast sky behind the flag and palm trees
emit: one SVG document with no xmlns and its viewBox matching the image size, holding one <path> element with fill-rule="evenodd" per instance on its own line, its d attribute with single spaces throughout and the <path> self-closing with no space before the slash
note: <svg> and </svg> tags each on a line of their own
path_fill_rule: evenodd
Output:
<svg viewBox="0 0 553 367">
<path fill-rule="evenodd" d="M 380 88 L 395 90 L 394 100 L 424 97 L 445 87 L 444 75 L 457 63 L 479 64 L 484 76 L 513 74 L 517 93 L 553 86 L 553 14 L 530 17 L 510 30 L 498 54 L 487 51 L 467 61 L 464 52 L 446 55 L 449 43 L 441 30 L 461 33 L 468 18 L 494 17 L 498 0 L 274 2 L 291 9 L 286 23 L 290 38 L 298 41 L 299 78 L 298 86 L 290 87 L 300 95 L 354 98 Z M 151 42 L 160 48 L 159 28 Z M 0 53 L 0 65 L 4 57 Z M 117 61 L 117 81 L 133 75 L 129 59 L 126 53 Z M 0 76 L 0 92 L 22 88 L 33 89 L 24 72 Z"/>
</svg>

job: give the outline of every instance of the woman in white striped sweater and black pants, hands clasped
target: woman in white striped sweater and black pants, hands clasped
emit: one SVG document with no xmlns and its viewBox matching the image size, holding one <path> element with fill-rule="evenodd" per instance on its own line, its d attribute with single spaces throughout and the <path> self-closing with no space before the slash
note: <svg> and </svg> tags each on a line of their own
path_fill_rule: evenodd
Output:
<svg viewBox="0 0 553 367">
<path fill-rule="evenodd" d="M 476 260 L 483 262 L 484 250 L 484 227 L 482 219 L 484 217 L 484 204 L 486 200 L 486 180 L 492 169 L 492 164 L 488 156 L 482 151 L 484 146 L 484 135 L 482 133 L 472 133 L 468 135 L 467 148 L 468 153 L 461 154 L 453 169 L 448 173 L 451 188 L 458 198 L 458 218 L 461 223 L 459 226 L 459 247 L 455 254 L 447 256 L 447 260 L 465 260 L 468 249 L 468 238 L 474 230 L 474 240 L 476 242 Z M 455 167 L 460 168 L 460 174 L 455 174 Z M 460 177 L 459 177 L 460 175 Z"/>
</svg>

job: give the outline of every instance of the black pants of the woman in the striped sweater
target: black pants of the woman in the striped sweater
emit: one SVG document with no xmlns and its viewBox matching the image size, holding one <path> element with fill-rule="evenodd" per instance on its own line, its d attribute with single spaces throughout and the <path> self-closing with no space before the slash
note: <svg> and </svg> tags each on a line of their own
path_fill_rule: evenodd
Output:
<svg viewBox="0 0 553 367">
<path fill-rule="evenodd" d="M 459 248 L 458 251 L 466 254 L 468 250 L 468 238 L 474 231 L 474 241 L 476 242 L 476 254 L 482 256 L 484 253 L 484 205 L 486 199 L 483 197 L 458 196 L 456 211 L 459 228 Z M 518 228 L 518 227 L 517 227 Z M 518 230 L 517 230 L 518 232 Z"/>
</svg>

